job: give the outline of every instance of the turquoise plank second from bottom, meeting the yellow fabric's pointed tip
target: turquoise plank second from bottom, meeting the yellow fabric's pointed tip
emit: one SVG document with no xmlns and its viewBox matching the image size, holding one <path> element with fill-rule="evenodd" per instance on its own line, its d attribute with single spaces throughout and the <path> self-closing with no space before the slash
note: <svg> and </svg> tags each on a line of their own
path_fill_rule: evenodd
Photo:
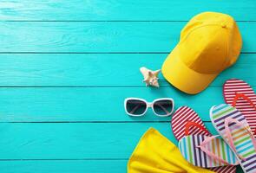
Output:
<svg viewBox="0 0 256 173">
<path fill-rule="evenodd" d="M 128 159 L 151 126 L 177 144 L 168 122 L 2 123 L 0 159 Z"/>
</svg>

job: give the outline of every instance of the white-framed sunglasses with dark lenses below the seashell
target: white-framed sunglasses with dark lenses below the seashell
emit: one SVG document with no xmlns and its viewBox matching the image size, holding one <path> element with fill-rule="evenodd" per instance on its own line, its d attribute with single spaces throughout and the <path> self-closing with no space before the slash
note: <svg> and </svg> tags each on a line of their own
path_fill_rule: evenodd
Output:
<svg viewBox="0 0 256 173">
<path fill-rule="evenodd" d="M 154 99 L 151 103 L 139 98 L 127 98 L 124 100 L 125 112 L 130 116 L 143 116 L 148 111 L 148 107 L 152 108 L 156 116 L 167 117 L 174 112 L 174 99 Z"/>
</svg>

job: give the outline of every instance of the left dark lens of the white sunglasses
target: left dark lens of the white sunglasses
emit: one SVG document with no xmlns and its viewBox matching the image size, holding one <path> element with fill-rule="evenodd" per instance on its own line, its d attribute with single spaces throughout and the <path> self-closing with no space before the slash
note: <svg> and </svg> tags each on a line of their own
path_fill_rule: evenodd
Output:
<svg viewBox="0 0 256 173">
<path fill-rule="evenodd" d="M 128 113 L 135 116 L 143 114 L 147 109 L 147 104 L 138 99 L 129 99 L 126 103 L 126 110 Z"/>
</svg>

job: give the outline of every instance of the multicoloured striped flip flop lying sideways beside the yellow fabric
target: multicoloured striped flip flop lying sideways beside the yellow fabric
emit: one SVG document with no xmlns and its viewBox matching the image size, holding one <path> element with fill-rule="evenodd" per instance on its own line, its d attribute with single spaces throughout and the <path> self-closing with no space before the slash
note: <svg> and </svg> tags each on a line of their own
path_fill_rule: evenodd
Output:
<svg viewBox="0 0 256 173">
<path fill-rule="evenodd" d="M 228 144 L 216 136 L 190 135 L 181 138 L 179 149 L 182 156 L 194 166 L 213 168 L 239 164 Z"/>
</svg>

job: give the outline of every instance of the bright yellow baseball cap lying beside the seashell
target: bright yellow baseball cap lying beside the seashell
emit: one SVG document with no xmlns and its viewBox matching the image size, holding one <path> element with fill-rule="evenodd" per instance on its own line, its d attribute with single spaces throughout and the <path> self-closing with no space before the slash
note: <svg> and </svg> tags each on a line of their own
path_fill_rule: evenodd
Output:
<svg viewBox="0 0 256 173">
<path fill-rule="evenodd" d="M 181 30 L 180 42 L 164 61 L 162 74 L 182 92 L 200 93 L 233 65 L 241 47 L 240 30 L 232 16 L 200 13 Z"/>
</svg>

